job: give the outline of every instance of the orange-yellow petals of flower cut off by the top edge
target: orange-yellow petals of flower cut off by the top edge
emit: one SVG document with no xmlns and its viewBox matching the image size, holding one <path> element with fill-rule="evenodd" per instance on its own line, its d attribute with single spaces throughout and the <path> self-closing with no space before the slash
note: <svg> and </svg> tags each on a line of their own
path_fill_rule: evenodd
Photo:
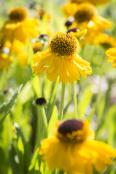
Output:
<svg viewBox="0 0 116 174">
<path fill-rule="evenodd" d="M 90 2 L 94 5 L 96 4 L 105 4 L 110 0 L 71 0 L 72 3 L 83 3 L 83 2 Z"/>
</svg>

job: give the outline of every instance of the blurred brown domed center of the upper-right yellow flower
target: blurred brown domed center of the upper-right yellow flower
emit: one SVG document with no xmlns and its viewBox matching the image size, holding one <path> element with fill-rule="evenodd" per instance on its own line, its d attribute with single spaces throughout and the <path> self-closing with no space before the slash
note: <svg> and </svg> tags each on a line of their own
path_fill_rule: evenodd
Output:
<svg viewBox="0 0 116 174">
<path fill-rule="evenodd" d="M 75 20 L 79 23 L 89 22 L 96 15 L 96 8 L 91 4 L 80 4 L 77 12 L 75 13 Z"/>
</svg>

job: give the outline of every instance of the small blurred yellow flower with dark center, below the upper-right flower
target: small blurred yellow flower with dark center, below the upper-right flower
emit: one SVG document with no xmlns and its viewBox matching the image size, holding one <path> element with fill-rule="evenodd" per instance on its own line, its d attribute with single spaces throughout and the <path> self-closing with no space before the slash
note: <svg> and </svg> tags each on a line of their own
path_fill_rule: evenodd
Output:
<svg viewBox="0 0 116 174">
<path fill-rule="evenodd" d="M 108 36 L 107 34 L 100 33 L 95 39 L 95 44 L 102 46 L 105 49 L 115 48 L 116 47 L 116 39 Z"/>
</svg>

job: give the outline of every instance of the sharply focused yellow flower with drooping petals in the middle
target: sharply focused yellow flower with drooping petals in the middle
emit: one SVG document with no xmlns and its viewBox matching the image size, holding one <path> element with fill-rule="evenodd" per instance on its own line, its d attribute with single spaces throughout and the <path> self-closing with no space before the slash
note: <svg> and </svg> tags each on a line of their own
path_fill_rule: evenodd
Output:
<svg viewBox="0 0 116 174">
<path fill-rule="evenodd" d="M 79 43 L 73 34 L 57 33 L 48 44 L 45 52 L 38 52 L 33 59 L 33 72 L 42 75 L 45 71 L 51 81 L 59 80 L 63 83 L 73 83 L 90 75 L 90 64 L 79 57 Z"/>
</svg>

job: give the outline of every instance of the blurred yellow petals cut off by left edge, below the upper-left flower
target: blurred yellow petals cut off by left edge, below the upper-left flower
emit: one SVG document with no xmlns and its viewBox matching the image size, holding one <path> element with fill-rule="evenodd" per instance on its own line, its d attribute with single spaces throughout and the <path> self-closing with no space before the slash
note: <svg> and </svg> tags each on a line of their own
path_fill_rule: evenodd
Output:
<svg viewBox="0 0 116 174">
<path fill-rule="evenodd" d="M 7 54 L 0 53 L 0 72 L 8 68 L 13 62 L 13 58 Z"/>
</svg>

